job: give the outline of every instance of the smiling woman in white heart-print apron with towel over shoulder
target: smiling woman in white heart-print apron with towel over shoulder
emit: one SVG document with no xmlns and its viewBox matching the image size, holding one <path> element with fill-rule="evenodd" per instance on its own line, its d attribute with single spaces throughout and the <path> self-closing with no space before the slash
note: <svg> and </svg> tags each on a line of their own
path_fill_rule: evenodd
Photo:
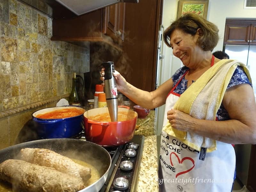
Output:
<svg viewBox="0 0 256 192">
<path fill-rule="evenodd" d="M 113 73 L 118 91 L 137 105 L 152 109 L 165 104 L 161 192 L 230 192 L 236 166 L 231 144 L 256 142 L 256 104 L 248 68 L 212 55 L 218 32 L 215 24 L 194 13 L 174 21 L 164 31 L 164 42 L 184 66 L 155 91 L 140 90 Z"/>
</svg>

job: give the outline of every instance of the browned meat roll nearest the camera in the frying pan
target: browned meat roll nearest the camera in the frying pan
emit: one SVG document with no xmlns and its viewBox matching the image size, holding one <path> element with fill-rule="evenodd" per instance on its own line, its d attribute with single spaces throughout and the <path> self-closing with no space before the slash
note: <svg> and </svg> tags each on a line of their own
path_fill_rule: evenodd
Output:
<svg viewBox="0 0 256 192">
<path fill-rule="evenodd" d="M 19 192 L 76 192 L 85 188 L 80 178 L 17 159 L 0 164 L 0 179 L 12 183 L 13 190 Z"/>
</svg>

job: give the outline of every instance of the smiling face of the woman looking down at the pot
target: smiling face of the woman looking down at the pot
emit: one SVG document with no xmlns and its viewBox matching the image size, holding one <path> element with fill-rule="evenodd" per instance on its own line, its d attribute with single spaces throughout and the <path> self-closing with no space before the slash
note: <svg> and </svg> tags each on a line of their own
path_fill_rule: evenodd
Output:
<svg viewBox="0 0 256 192">
<path fill-rule="evenodd" d="M 192 36 L 188 33 L 184 33 L 180 29 L 175 29 L 170 36 L 173 55 L 180 58 L 183 65 L 188 68 L 193 67 L 199 62 L 199 54 L 203 51 L 202 48 L 196 44 L 198 37 L 198 32 L 195 36 Z"/>
</svg>

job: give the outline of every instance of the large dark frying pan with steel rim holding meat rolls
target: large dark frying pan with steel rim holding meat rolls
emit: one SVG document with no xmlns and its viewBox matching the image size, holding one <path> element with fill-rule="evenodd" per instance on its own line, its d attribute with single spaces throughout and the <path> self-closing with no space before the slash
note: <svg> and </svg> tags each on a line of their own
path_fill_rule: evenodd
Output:
<svg viewBox="0 0 256 192">
<path fill-rule="evenodd" d="M 98 192 L 105 183 L 111 166 L 111 157 L 106 149 L 84 140 L 43 139 L 13 145 L 0 150 L 0 163 L 7 159 L 19 159 L 22 148 L 47 148 L 70 158 L 92 164 L 100 173 L 100 179 L 79 192 Z"/>
</svg>

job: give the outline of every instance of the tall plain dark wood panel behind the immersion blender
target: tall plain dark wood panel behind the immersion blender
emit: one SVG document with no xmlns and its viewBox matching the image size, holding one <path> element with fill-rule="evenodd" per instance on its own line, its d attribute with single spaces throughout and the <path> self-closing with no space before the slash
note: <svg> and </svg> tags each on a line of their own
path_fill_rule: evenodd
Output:
<svg viewBox="0 0 256 192">
<path fill-rule="evenodd" d="M 161 3 L 161 0 L 126 3 L 124 41 L 120 52 L 102 43 L 91 43 L 90 68 L 101 62 L 113 61 L 115 69 L 127 82 L 142 90 L 155 90 L 158 31 L 162 24 Z M 113 25 L 111 27 L 113 29 Z"/>
</svg>

